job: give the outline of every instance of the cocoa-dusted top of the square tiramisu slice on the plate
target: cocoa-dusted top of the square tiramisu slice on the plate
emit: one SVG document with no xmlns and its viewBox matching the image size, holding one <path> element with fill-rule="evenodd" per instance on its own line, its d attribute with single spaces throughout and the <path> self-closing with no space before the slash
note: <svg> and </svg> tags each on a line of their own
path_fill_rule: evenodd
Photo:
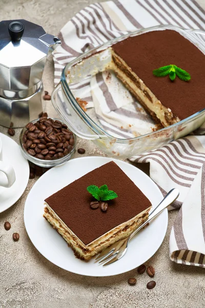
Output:
<svg viewBox="0 0 205 308">
<path fill-rule="evenodd" d="M 95 200 L 89 185 L 107 184 L 118 198 L 108 201 L 106 213 L 90 208 Z M 45 200 L 58 217 L 85 244 L 151 206 L 150 201 L 114 162 L 109 162 L 72 182 Z"/>
</svg>

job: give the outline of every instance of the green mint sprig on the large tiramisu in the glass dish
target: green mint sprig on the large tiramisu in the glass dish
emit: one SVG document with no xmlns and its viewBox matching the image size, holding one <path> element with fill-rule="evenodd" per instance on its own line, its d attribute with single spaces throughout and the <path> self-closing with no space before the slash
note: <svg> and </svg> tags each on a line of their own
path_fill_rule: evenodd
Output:
<svg viewBox="0 0 205 308">
<path fill-rule="evenodd" d="M 157 77 L 165 77 L 165 76 L 169 75 L 169 78 L 172 81 L 175 80 L 176 76 L 180 80 L 183 80 L 183 81 L 189 81 L 191 79 L 190 74 L 186 70 L 181 69 L 180 67 L 178 67 L 174 64 L 161 66 L 157 69 L 154 69 L 153 75 L 155 75 Z"/>
</svg>

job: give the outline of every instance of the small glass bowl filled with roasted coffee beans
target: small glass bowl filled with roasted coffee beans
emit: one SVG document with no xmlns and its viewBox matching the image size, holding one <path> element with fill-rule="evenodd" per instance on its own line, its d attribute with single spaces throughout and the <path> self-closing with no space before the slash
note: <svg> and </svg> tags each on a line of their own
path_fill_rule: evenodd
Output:
<svg viewBox="0 0 205 308">
<path fill-rule="evenodd" d="M 68 161 L 75 151 L 76 137 L 67 125 L 47 114 L 28 123 L 20 133 L 20 149 L 26 159 L 40 167 Z"/>
</svg>

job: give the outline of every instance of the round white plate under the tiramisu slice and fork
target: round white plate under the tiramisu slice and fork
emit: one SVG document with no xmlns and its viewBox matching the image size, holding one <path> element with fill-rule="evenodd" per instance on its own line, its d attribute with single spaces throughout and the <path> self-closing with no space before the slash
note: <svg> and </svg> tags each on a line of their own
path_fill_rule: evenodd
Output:
<svg viewBox="0 0 205 308">
<path fill-rule="evenodd" d="M 114 161 L 129 176 L 154 207 L 162 200 L 159 188 L 144 172 L 131 164 L 104 157 L 72 159 L 64 165 L 50 169 L 34 184 L 27 197 L 24 221 L 32 243 L 44 257 L 67 271 L 86 276 L 112 276 L 125 273 L 151 258 L 165 237 L 168 225 L 167 210 L 130 241 L 128 251 L 123 258 L 103 267 L 94 263 L 94 259 L 85 262 L 75 258 L 66 241 L 43 218 L 44 200 L 47 197 L 110 161 Z"/>
</svg>

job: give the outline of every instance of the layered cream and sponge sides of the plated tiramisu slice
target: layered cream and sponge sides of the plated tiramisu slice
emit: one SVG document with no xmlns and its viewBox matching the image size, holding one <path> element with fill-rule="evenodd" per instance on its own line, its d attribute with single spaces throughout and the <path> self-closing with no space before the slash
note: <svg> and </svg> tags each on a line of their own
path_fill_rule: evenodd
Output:
<svg viewBox="0 0 205 308">
<path fill-rule="evenodd" d="M 130 233 L 147 220 L 151 207 L 145 209 L 129 221 L 126 221 L 115 228 L 109 230 L 106 234 L 95 239 L 88 245 L 85 245 L 72 230 L 56 215 L 52 208 L 45 202 L 44 217 L 53 226 L 54 229 L 66 240 L 71 246 L 77 258 L 89 260 L 94 255 L 103 251 L 103 249 L 112 245 L 118 240 L 126 238 Z"/>
</svg>

